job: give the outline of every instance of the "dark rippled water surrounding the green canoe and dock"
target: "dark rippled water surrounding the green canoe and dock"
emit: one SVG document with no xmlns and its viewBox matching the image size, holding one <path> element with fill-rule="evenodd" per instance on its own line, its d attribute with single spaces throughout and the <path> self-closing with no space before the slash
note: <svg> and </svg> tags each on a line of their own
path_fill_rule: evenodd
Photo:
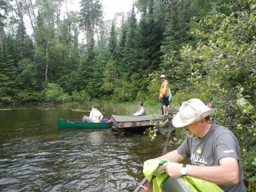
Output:
<svg viewBox="0 0 256 192">
<path fill-rule="evenodd" d="M 99 107 L 104 118 L 122 109 Z M 0 191 L 133 191 L 143 162 L 162 155 L 165 137 L 110 129 L 57 129 L 57 118 L 82 119 L 89 106 L 0 106 Z"/>
</svg>

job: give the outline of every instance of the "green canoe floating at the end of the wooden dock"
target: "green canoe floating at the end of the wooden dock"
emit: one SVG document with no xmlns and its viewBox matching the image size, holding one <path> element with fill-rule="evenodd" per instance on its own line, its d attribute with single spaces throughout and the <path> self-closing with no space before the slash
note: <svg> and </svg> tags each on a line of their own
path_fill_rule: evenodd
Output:
<svg viewBox="0 0 256 192">
<path fill-rule="evenodd" d="M 57 128 L 111 128 L 113 123 L 83 123 L 82 120 L 57 120 Z"/>
</svg>

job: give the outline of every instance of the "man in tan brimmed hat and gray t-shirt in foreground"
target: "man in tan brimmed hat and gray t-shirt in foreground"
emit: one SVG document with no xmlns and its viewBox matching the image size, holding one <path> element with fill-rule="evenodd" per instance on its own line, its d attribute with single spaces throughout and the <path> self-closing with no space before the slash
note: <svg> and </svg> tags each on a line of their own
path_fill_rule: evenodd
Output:
<svg viewBox="0 0 256 192">
<path fill-rule="evenodd" d="M 191 176 L 217 184 L 225 192 L 246 192 L 240 148 L 229 129 L 210 122 L 210 109 L 200 99 L 183 102 L 174 116 L 174 127 L 187 131 L 177 150 L 156 159 L 168 159 L 163 169 L 172 177 Z M 185 158 L 191 165 L 180 164 Z"/>
</svg>

